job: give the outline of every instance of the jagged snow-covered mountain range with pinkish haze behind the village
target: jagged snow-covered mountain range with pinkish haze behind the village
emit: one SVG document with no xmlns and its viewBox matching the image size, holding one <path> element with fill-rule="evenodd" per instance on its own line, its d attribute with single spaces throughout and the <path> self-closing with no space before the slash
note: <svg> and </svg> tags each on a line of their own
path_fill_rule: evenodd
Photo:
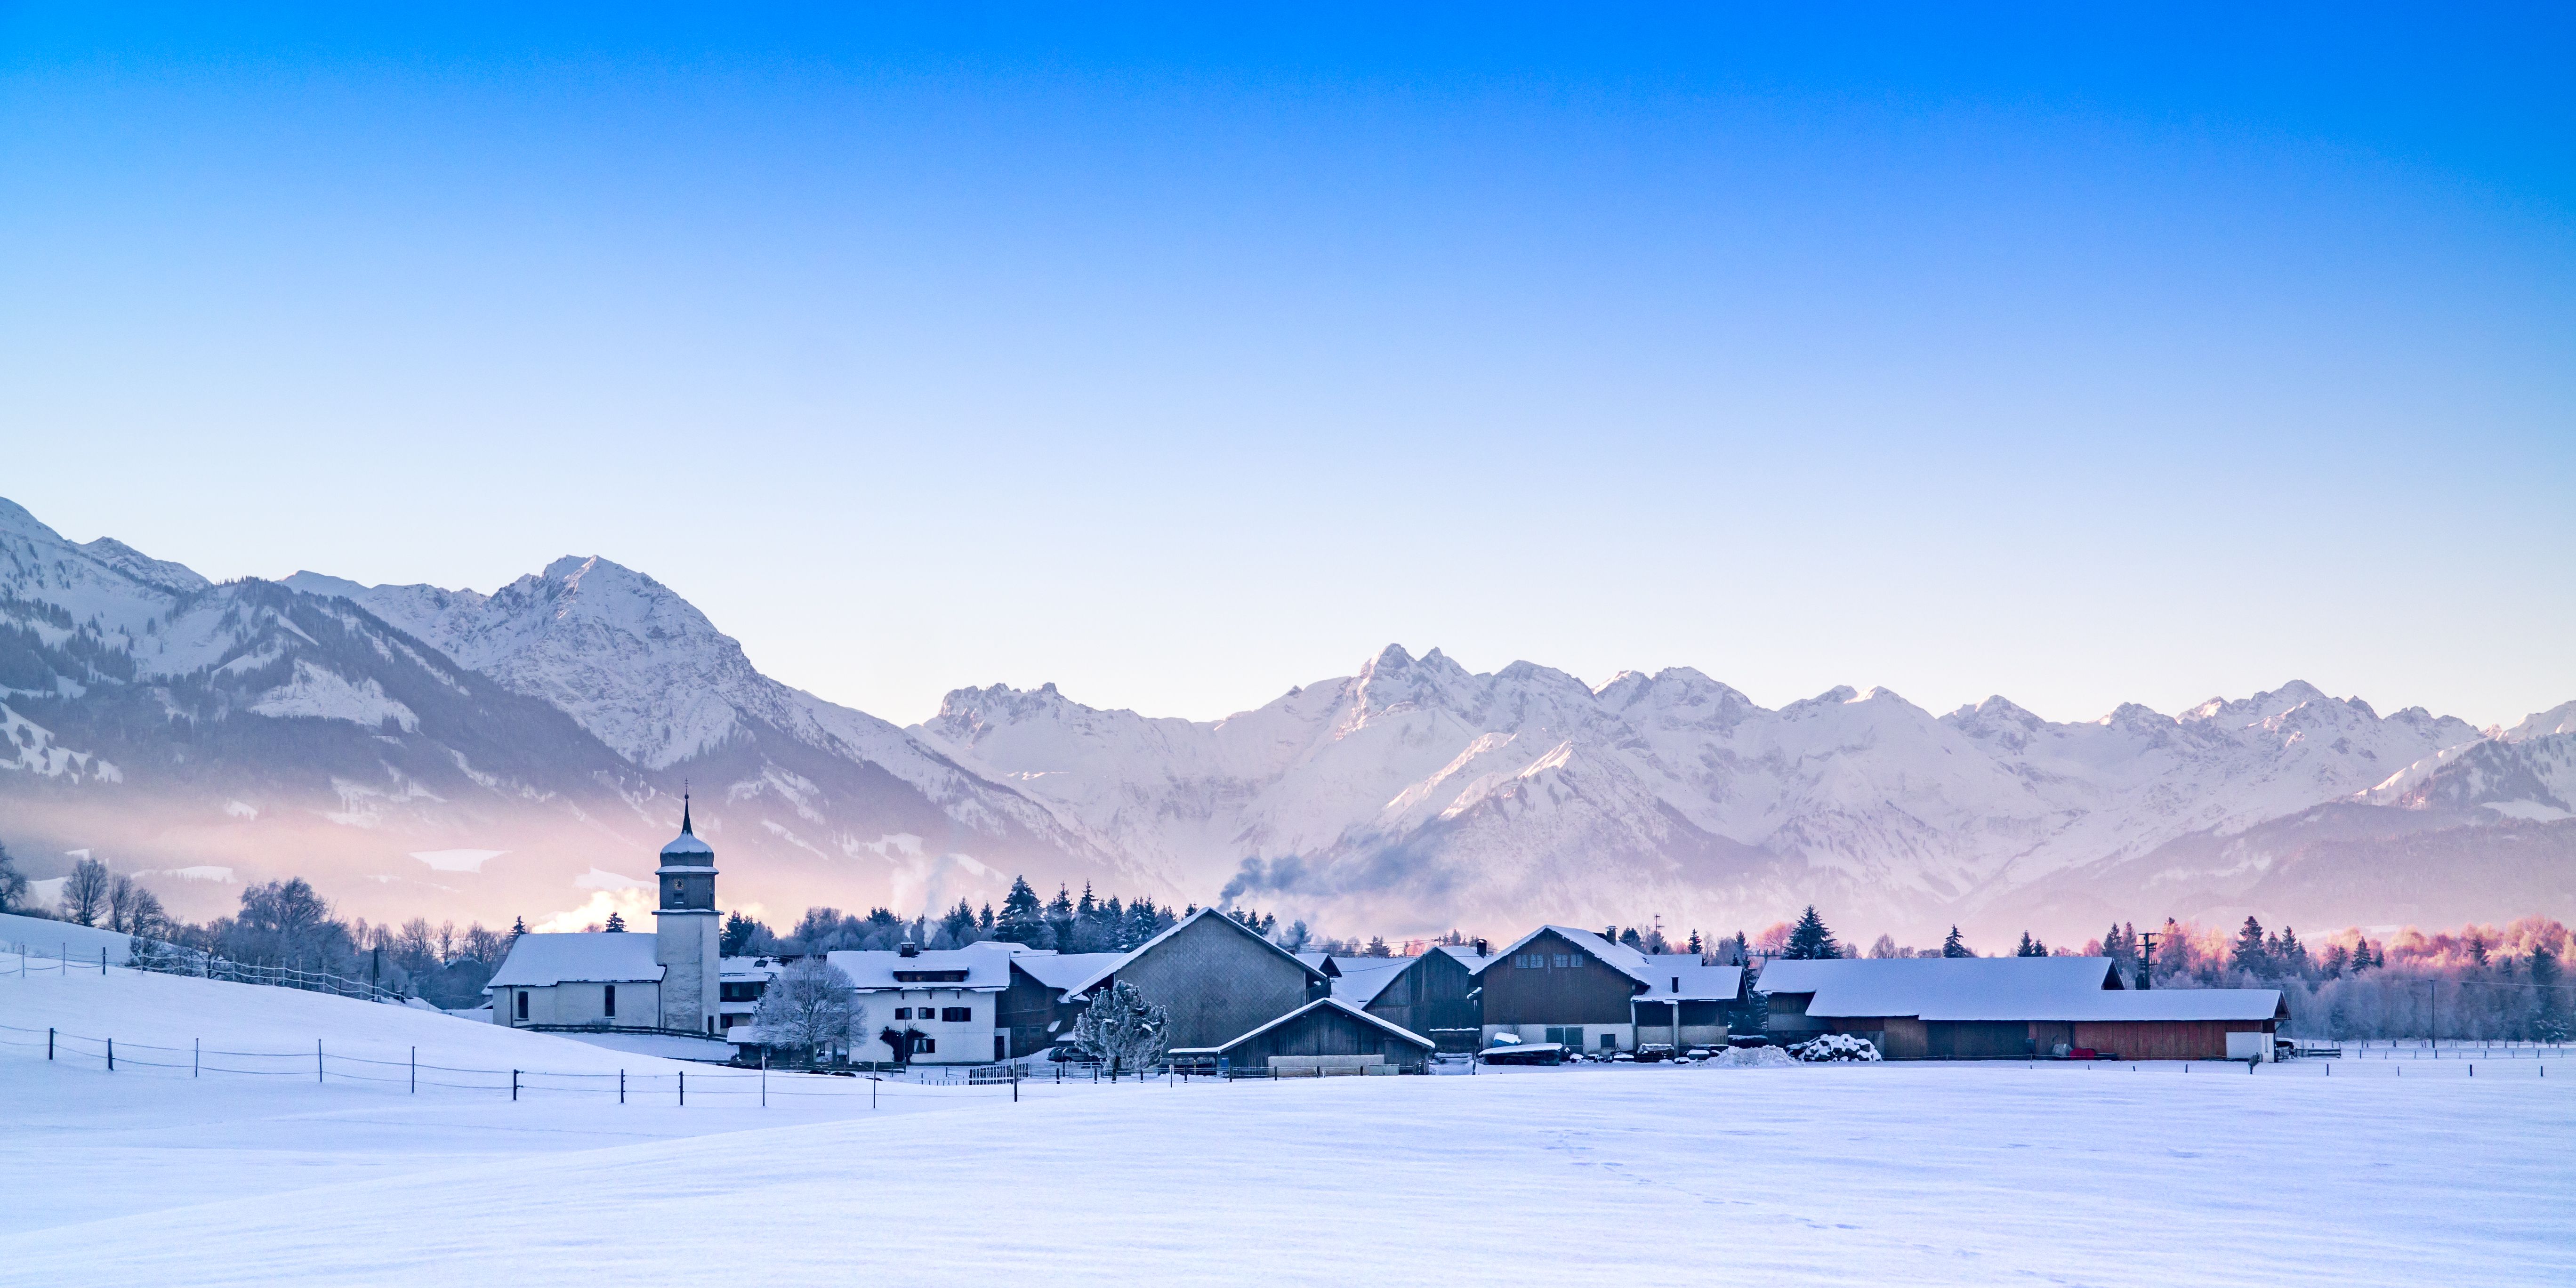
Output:
<svg viewBox="0 0 2576 1288">
<path fill-rule="evenodd" d="M 1383 933 L 2576 914 L 2576 703 L 2488 732 L 2306 683 L 2084 724 L 1770 711 L 1687 667 L 1592 688 L 1388 647 L 1221 721 L 997 685 L 896 729 L 608 559 L 492 595 L 209 585 L 8 502 L 0 737 L 31 866 L 90 848 L 209 902 L 301 871 L 371 914 L 634 904 L 683 781 L 729 902 L 773 917 L 1020 871 Z"/>
</svg>

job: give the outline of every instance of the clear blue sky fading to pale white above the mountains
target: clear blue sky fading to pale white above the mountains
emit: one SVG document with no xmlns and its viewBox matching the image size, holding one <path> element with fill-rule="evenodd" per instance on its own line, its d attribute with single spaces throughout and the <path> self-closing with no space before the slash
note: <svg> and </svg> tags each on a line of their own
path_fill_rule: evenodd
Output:
<svg viewBox="0 0 2576 1288">
<path fill-rule="evenodd" d="M 0 495 L 896 721 L 2576 698 L 2566 10 L 0 10 Z"/>
</svg>

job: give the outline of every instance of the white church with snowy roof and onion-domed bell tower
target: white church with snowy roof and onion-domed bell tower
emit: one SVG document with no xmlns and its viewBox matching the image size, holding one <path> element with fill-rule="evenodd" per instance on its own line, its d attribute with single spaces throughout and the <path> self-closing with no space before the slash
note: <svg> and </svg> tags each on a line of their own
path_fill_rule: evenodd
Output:
<svg viewBox="0 0 2576 1288">
<path fill-rule="evenodd" d="M 680 799 L 680 835 L 654 868 L 654 933 L 520 935 L 484 994 L 510 1028 L 636 1028 L 721 1038 L 716 848 Z"/>
</svg>

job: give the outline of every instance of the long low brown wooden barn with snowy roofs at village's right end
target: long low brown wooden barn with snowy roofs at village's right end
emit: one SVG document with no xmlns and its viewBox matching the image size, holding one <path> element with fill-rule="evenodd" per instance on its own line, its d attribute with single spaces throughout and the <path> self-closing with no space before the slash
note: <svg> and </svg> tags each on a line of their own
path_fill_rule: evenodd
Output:
<svg viewBox="0 0 2576 1288">
<path fill-rule="evenodd" d="M 1888 1059 L 2269 1059 L 2277 989 L 2128 992 L 2110 958 L 1772 961 L 1770 1033 L 1857 1033 Z M 2236 1038 L 2231 1041 L 2231 1033 Z M 2262 1038 L 2249 1038 L 2262 1036 Z"/>
</svg>

